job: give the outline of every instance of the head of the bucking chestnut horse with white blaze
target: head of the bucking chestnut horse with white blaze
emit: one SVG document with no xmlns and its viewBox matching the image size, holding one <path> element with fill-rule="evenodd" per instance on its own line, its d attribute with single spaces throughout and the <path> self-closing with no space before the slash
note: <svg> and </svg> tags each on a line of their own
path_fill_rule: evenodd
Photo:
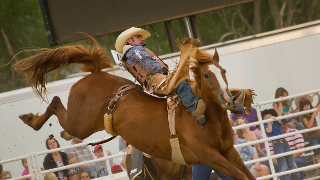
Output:
<svg viewBox="0 0 320 180">
<path fill-rule="evenodd" d="M 224 109 L 229 109 L 232 105 L 232 94 L 228 89 L 226 70 L 219 65 L 217 49 L 213 57 L 199 49 L 191 57 L 197 61 L 194 63 L 197 67 L 192 69 L 200 87 L 200 94 L 217 103 L 220 102 Z"/>
</svg>

